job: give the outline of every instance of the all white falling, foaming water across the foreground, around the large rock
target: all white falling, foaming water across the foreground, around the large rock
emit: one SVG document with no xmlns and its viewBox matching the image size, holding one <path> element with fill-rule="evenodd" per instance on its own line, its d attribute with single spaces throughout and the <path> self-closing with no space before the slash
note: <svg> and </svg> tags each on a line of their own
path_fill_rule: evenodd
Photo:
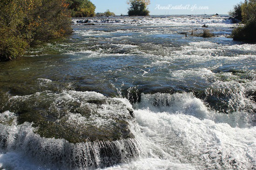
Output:
<svg viewBox="0 0 256 170">
<path fill-rule="evenodd" d="M 69 95 L 73 96 L 78 94 L 69 92 Z M 81 92 L 79 96 L 102 97 L 99 93 L 85 94 Z M 113 99 L 123 102 L 127 107 L 132 107 L 127 99 Z M 106 163 L 108 159 L 105 157 L 107 159 L 105 165 L 107 167 L 109 165 L 106 170 L 256 168 L 256 126 L 253 126 L 248 112 L 235 111 L 224 114 L 214 111 L 202 100 L 195 98 L 192 93 L 142 94 L 141 103 L 137 103 L 134 107 L 137 121 L 135 126 L 138 128 L 133 131 L 135 139 L 109 144 L 121 148 L 122 163 L 108 164 Z M 70 115 L 70 118 L 83 121 L 76 116 Z M 69 144 L 64 139 L 43 138 L 34 133 L 32 124 L 17 125 L 15 114 L 9 111 L 1 114 L 1 120 L 6 121 L 7 117 L 13 118 L 14 121 L 8 125 L 1 125 L 0 131 L 1 134 L 6 134 L 8 139 L 13 140 L 7 140 L 7 148 L 0 154 L 0 167 L 13 170 L 54 170 L 67 164 L 70 164 L 70 167 L 66 168 L 72 169 L 74 163 L 80 169 L 96 169 L 101 166 L 102 158 L 100 156 L 97 158 L 96 155 L 108 144 L 98 142 Z M 28 148 L 30 150 L 27 150 Z M 90 148 L 93 148 L 92 152 L 89 151 Z M 128 159 L 131 151 L 138 148 L 141 150 L 140 153 L 135 153 L 137 156 L 134 159 Z M 126 151 L 123 153 L 124 150 Z M 86 157 L 86 160 L 92 160 L 89 157 L 96 158 L 93 162 L 79 162 L 80 159 L 76 159 L 77 157 Z"/>
</svg>

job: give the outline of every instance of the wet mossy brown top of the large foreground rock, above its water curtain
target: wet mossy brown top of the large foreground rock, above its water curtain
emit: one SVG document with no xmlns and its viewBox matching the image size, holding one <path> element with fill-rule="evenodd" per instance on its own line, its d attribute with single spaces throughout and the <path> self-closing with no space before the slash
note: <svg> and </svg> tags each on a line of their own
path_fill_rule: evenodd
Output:
<svg viewBox="0 0 256 170">
<path fill-rule="evenodd" d="M 70 143 L 133 138 L 129 122 L 135 121 L 128 101 L 96 92 L 40 92 L 10 99 L 6 110 L 17 113 L 18 124 L 33 122 L 41 137 Z"/>
</svg>

